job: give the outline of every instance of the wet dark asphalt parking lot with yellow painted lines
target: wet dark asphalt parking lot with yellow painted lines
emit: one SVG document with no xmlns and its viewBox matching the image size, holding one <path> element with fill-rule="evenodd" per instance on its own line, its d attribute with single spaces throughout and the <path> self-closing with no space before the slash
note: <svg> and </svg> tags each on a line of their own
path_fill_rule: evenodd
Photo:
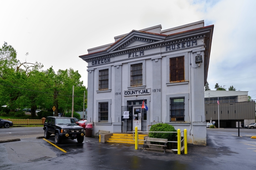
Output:
<svg viewBox="0 0 256 170">
<path fill-rule="evenodd" d="M 43 134 L 40 128 L 35 131 Z M 3 130 L 0 129 L 0 140 L 9 135 Z M 93 137 L 85 137 L 82 144 L 76 139 L 64 140 L 57 145 L 66 151 L 63 152 L 49 143 L 54 143 L 53 138 L 47 142 L 27 138 L 24 133 L 19 136 L 20 141 L 0 143 L 0 169 L 254 169 L 256 139 L 250 137 L 256 135 L 256 129 L 242 128 L 240 137 L 237 135 L 236 128 L 207 128 L 207 146 L 188 144 L 188 154 L 178 155 L 135 150 L 130 144 L 99 143 Z"/>
</svg>

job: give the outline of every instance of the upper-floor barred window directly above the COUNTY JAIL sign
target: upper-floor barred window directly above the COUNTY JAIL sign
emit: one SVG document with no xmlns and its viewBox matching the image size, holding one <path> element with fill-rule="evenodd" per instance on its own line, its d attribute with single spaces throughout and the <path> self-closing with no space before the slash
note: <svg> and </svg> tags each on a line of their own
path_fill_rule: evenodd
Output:
<svg viewBox="0 0 256 170">
<path fill-rule="evenodd" d="M 142 63 L 131 65 L 131 86 L 142 85 Z"/>
</svg>

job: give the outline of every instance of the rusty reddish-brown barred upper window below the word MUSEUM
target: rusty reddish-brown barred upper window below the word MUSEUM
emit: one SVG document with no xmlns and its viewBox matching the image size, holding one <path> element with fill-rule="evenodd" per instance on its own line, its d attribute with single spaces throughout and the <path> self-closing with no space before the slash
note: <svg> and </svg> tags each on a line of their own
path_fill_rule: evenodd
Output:
<svg viewBox="0 0 256 170">
<path fill-rule="evenodd" d="M 170 58 L 170 82 L 184 81 L 184 56 Z"/>
</svg>

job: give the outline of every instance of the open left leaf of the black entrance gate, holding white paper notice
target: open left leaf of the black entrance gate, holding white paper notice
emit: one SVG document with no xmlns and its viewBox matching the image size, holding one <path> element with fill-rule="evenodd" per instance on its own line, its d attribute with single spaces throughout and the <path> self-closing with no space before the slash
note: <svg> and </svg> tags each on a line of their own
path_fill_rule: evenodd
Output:
<svg viewBox="0 0 256 170">
<path fill-rule="evenodd" d="M 124 111 L 129 111 L 129 119 L 124 119 Z M 132 106 L 122 106 L 122 132 L 132 131 Z"/>
</svg>

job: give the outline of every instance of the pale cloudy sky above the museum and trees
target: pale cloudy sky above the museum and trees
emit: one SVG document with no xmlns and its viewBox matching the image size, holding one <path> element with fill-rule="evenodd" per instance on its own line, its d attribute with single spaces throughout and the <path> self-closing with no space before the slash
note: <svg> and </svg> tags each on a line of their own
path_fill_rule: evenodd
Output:
<svg viewBox="0 0 256 170">
<path fill-rule="evenodd" d="M 87 87 L 87 49 L 114 37 L 162 25 L 162 30 L 204 20 L 214 25 L 208 71 L 214 85 L 249 91 L 256 99 L 255 0 L 0 0 L 0 45 L 44 70 L 73 68 Z M 26 57 L 26 53 L 29 53 Z"/>
</svg>

